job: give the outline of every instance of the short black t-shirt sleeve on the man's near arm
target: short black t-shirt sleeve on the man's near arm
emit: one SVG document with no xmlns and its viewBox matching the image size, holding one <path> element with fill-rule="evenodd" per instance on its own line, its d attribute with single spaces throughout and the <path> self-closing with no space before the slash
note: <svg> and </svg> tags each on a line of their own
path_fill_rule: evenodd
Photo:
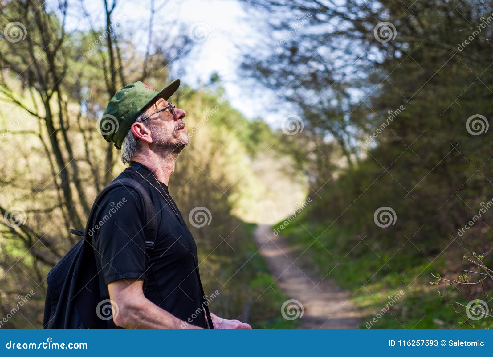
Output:
<svg viewBox="0 0 493 357">
<path fill-rule="evenodd" d="M 118 187 L 95 215 L 92 242 L 106 285 L 119 279 L 145 279 L 145 235 L 139 194 Z"/>
</svg>

